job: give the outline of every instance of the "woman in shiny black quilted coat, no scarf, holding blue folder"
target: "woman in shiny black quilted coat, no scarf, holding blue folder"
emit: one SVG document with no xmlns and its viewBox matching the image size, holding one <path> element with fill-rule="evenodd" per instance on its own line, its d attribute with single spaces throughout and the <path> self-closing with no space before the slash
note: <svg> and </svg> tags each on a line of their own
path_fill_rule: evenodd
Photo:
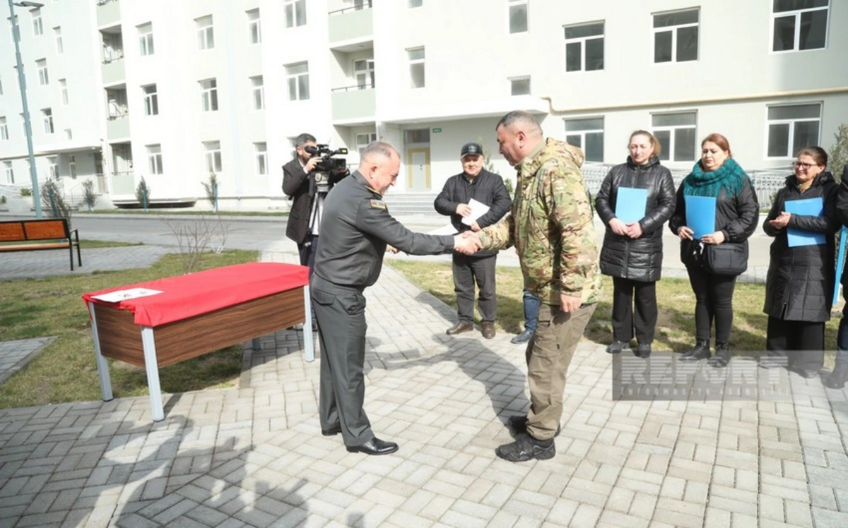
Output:
<svg viewBox="0 0 848 528">
<path fill-rule="evenodd" d="M 650 345 L 654 342 L 656 281 L 660 280 L 662 269 L 662 225 L 674 212 L 674 181 L 672 173 L 660 164 L 660 148 L 660 142 L 650 132 L 633 132 L 627 163 L 610 170 L 594 200 L 600 220 L 606 226 L 600 271 L 612 276 L 613 341 L 606 347 L 608 353 L 620 353 L 629 346 L 634 326 L 639 343 L 637 356 L 650 356 Z M 644 208 L 640 198 L 638 211 L 632 218 L 627 218 L 624 203 L 616 207 L 622 189 L 645 191 Z M 625 214 L 625 218 L 618 218 L 616 211 Z"/>
</svg>

